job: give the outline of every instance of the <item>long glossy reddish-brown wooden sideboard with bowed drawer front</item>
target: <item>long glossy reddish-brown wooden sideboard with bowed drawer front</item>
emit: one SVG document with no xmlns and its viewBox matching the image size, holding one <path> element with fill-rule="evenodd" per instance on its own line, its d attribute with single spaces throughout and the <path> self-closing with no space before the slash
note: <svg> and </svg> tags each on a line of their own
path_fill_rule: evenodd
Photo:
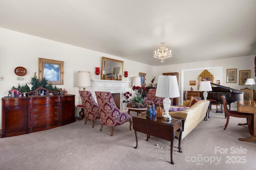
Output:
<svg viewBox="0 0 256 170">
<path fill-rule="evenodd" d="M 75 121 L 75 96 L 2 98 L 1 137 L 43 131 Z"/>
</svg>

